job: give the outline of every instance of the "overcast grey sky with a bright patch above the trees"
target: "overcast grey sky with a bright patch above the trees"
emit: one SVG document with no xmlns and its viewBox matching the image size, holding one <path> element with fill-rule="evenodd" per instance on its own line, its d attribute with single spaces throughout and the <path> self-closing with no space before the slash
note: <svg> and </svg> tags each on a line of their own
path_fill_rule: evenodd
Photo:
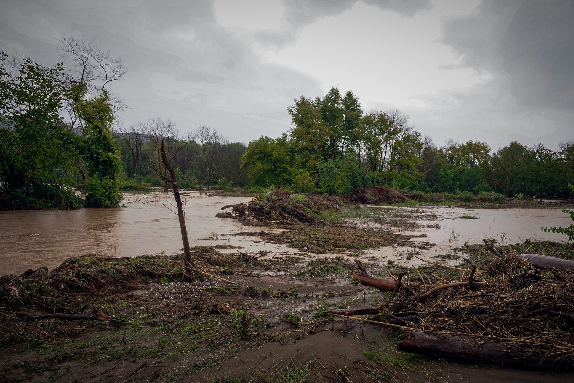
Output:
<svg viewBox="0 0 574 383">
<path fill-rule="evenodd" d="M 54 63 L 60 33 L 122 57 L 126 125 L 278 137 L 294 98 L 336 86 L 438 144 L 574 138 L 572 0 L 0 0 L 6 53 Z"/>
</svg>

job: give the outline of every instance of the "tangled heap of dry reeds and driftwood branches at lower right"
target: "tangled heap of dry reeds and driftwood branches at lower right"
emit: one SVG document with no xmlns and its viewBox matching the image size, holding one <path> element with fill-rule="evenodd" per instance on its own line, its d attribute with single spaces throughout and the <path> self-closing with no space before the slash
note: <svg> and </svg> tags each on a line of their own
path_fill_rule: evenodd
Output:
<svg viewBox="0 0 574 383">
<path fill-rule="evenodd" d="M 517 254 L 495 257 L 480 272 L 454 280 L 414 273 L 411 283 L 362 272 L 355 279 L 392 291 L 380 307 L 330 310 L 334 315 L 379 314 L 401 328 L 399 349 L 440 358 L 528 368 L 574 368 L 574 271 L 537 269 Z M 413 277 L 413 273 L 411 273 Z M 398 280 L 398 282 L 397 282 Z"/>
</svg>

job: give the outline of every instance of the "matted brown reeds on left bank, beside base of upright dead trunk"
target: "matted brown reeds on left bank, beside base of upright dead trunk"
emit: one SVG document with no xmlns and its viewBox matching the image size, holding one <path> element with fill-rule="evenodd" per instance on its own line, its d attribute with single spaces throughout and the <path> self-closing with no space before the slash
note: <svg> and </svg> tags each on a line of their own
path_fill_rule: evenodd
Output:
<svg viewBox="0 0 574 383">
<path fill-rule="evenodd" d="M 257 262 L 257 254 L 225 254 L 205 246 L 193 247 L 192 251 L 197 262 L 212 273 Z M 89 328 L 119 323 L 119 318 L 106 314 L 111 305 L 137 302 L 141 297 L 131 291 L 141 285 L 185 280 L 181 266 L 179 255 L 121 258 L 86 255 L 68 258 L 52 270 L 38 268 L 20 276 L 2 276 L 0 345 L 52 342 Z M 47 318 L 66 320 L 42 320 Z"/>
</svg>

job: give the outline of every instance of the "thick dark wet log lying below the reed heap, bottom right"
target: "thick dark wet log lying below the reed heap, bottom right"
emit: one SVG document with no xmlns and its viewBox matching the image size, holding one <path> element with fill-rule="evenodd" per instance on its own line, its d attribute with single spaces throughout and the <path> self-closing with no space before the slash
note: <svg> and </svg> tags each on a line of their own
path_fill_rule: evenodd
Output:
<svg viewBox="0 0 574 383">
<path fill-rule="evenodd" d="M 525 346 L 526 348 L 528 346 Z M 544 354 L 515 353 L 500 343 L 482 343 L 478 345 L 466 338 L 433 335 L 426 332 L 413 332 L 413 334 L 398 344 L 398 349 L 409 353 L 445 358 L 451 361 L 479 362 L 528 369 L 571 369 L 571 366 L 564 360 L 545 359 Z"/>
</svg>

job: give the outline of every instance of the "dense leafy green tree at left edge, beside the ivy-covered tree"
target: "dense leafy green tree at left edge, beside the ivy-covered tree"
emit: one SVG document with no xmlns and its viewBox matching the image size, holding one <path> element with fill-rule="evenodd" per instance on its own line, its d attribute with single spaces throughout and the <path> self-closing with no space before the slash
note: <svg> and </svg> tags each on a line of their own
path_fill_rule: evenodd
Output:
<svg viewBox="0 0 574 383">
<path fill-rule="evenodd" d="M 60 110 L 62 64 L 45 67 L 0 53 L 0 196 L 3 208 L 75 208 L 65 189 L 75 137 Z"/>
</svg>

